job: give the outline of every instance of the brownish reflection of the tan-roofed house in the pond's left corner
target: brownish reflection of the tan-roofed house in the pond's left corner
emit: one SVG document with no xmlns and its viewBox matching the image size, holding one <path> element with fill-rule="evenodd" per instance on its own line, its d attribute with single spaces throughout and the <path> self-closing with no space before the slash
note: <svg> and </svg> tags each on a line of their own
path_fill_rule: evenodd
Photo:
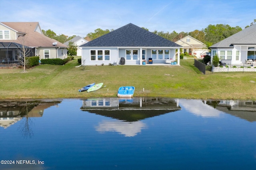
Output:
<svg viewBox="0 0 256 170">
<path fill-rule="evenodd" d="M 60 101 L 0 101 L 0 127 L 7 128 L 23 117 L 42 117 L 44 109 Z"/>
</svg>

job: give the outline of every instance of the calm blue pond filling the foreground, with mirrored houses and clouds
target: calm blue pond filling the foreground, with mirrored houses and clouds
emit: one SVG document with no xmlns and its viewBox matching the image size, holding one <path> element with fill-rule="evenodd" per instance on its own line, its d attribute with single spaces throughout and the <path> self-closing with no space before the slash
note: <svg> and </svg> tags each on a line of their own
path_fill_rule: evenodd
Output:
<svg viewBox="0 0 256 170">
<path fill-rule="evenodd" d="M 255 101 L 0 101 L 0 169 L 255 169 L 255 130 Z"/>
</svg>

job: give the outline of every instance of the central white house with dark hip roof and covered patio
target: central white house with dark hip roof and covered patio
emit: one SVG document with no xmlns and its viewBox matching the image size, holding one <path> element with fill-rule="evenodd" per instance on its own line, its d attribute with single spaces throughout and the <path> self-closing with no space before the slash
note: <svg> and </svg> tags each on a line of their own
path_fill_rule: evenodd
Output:
<svg viewBox="0 0 256 170">
<path fill-rule="evenodd" d="M 152 63 L 177 61 L 180 64 L 182 46 L 164 39 L 132 23 L 102 35 L 82 48 L 83 65 L 126 64 L 142 65 L 152 58 Z M 176 50 L 178 51 L 176 59 Z M 121 58 L 125 61 L 121 63 Z M 85 61 L 85 62 L 84 62 Z"/>
</svg>

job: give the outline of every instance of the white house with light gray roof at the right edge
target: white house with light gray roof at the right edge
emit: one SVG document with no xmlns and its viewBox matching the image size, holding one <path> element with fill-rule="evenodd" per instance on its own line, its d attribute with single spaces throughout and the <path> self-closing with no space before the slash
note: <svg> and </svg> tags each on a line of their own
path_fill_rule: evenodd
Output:
<svg viewBox="0 0 256 170">
<path fill-rule="evenodd" d="M 248 59 L 256 59 L 256 24 L 231 35 L 212 45 L 211 56 L 218 55 L 226 64 L 244 64 Z"/>
</svg>

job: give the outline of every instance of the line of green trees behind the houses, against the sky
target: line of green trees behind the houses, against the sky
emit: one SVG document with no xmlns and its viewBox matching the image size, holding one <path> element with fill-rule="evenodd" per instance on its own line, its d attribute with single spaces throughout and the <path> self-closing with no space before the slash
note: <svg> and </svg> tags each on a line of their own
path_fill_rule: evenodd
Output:
<svg viewBox="0 0 256 170">
<path fill-rule="evenodd" d="M 250 25 L 247 25 L 246 27 L 249 27 L 253 24 L 256 23 L 256 19 Z M 246 28 L 245 27 L 245 28 Z M 144 28 L 144 27 L 142 27 Z M 144 28 L 148 30 L 147 28 Z M 113 31 L 114 29 L 106 29 L 102 30 L 100 28 L 95 29 L 94 33 L 88 33 L 84 39 L 87 40 L 93 40 L 96 39 L 106 33 L 109 33 L 110 31 Z M 242 28 L 239 26 L 236 27 L 231 27 L 230 25 L 227 24 L 216 24 L 216 25 L 208 25 L 206 28 L 202 30 L 194 30 L 192 32 L 180 32 L 177 33 L 176 31 L 172 32 L 163 32 L 163 31 L 153 31 L 152 33 L 159 35 L 161 37 L 164 37 L 165 39 L 168 39 L 170 41 L 176 42 L 187 35 L 190 35 L 191 37 L 197 39 L 198 41 L 201 41 L 202 43 L 206 44 L 207 47 L 210 47 L 211 45 L 218 43 L 219 41 L 222 41 L 223 39 L 226 39 L 227 37 L 230 37 L 231 35 L 238 33 L 239 31 L 242 31 Z M 66 41 L 76 37 L 76 35 L 73 35 L 71 37 L 68 37 L 67 35 L 61 34 L 61 35 L 56 35 L 54 31 L 48 29 L 48 30 L 42 30 L 43 34 L 46 35 L 47 37 L 50 37 L 52 39 L 56 39 L 60 43 L 65 43 Z"/>
</svg>

